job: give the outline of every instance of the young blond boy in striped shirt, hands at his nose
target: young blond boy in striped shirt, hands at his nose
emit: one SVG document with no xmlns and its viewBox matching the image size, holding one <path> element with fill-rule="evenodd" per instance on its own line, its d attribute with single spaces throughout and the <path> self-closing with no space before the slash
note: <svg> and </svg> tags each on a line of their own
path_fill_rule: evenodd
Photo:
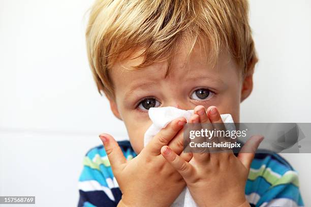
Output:
<svg viewBox="0 0 311 207">
<path fill-rule="evenodd" d="M 277 154 L 183 153 L 182 117 L 143 147 L 152 107 L 194 109 L 190 123 L 222 123 L 220 114 L 239 122 L 257 62 L 247 14 L 242 0 L 95 3 L 90 67 L 130 142 L 100 135 L 104 147 L 84 159 L 78 206 L 170 206 L 185 186 L 199 206 L 303 205 L 296 172 Z"/>
</svg>

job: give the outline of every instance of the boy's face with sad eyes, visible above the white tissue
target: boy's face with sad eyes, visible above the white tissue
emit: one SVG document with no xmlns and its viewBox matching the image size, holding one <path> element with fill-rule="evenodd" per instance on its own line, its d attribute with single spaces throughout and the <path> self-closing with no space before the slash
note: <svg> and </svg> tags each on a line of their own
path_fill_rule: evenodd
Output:
<svg viewBox="0 0 311 207">
<path fill-rule="evenodd" d="M 198 44 L 188 62 L 188 49 L 181 46 L 178 51 L 167 77 L 167 62 L 134 71 L 122 68 L 138 65 L 142 58 L 116 63 L 111 70 L 115 91 L 115 100 L 110 99 L 111 109 L 124 121 L 136 153 L 142 150 L 144 133 L 151 125 L 149 108 L 173 106 L 193 110 L 198 105 L 206 109 L 216 106 L 221 114 L 231 114 L 234 122 L 239 122 L 240 101 L 252 91 L 252 75 L 242 79 L 228 52 L 221 53 L 217 64 L 211 66 Z"/>
</svg>

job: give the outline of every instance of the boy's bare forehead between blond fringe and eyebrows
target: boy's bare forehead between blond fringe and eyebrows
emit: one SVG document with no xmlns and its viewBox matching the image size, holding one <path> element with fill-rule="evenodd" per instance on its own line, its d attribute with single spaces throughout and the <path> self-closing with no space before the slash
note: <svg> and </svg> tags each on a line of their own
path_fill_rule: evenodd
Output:
<svg viewBox="0 0 311 207">
<path fill-rule="evenodd" d="M 132 52 L 130 57 L 123 59 L 114 64 L 111 70 L 111 78 L 117 87 L 118 82 L 127 81 L 143 81 L 144 79 L 159 79 L 167 78 L 168 61 L 153 63 L 145 68 L 134 70 L 133 67 L 141 64 L 144 57 L 139 55 L 143 50 Z M 177 53 L 173 55 L 169 77 L 182 79 L 185 76 L 191 78 L 200 74 L 208 76 L 210 79 L 221 79 L 222 72 L 228 68 L 232 68 L 233 60 L 227 50 L 222 50 L 215 64 L 210 62 L 208 52 L 199 44 L 195 44 L 189 58 L 189 49 L 186 46 L 180 46 Z M 231 66 L 230 66 L 231 65 Z M 238 70 L 236 70 L 238 71 Z"/>
</svg>

